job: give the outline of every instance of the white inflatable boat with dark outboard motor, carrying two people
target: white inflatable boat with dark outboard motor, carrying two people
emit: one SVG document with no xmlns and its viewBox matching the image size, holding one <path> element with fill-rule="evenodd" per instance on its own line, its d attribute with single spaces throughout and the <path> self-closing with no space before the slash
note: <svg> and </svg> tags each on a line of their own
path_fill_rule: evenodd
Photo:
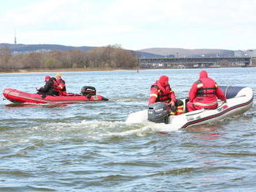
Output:
<svg viewBox="0 0 256 192">
<path fill-rule="evenodd" d="M 227 102 L 218 101 L 216 109 L 200 109 L 186 112 L 185 105 L 182 115 L 169 115 L 166 104 L 154 103 L 148 109 L 131 113 L 126 123 L 155 122 L 171 124 L 172 129 L 187 129 L 193 125 L 218 122 L 231 115 L 247 111 L 253 105 L 254 93 L 250 87 L 220 86 L 226 95 Z M 189 99 L 182 99 L 187 103 Z"/>
</svg>

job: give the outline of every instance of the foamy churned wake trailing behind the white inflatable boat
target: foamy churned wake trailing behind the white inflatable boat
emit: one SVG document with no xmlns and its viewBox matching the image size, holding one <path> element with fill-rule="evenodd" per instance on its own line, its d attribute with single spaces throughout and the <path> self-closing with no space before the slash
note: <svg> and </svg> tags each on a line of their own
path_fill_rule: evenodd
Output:
<svg viewBox="0 0 256 192">
<path fill-rule="evenodd" d="M 50 122 L 36 125 L 30 128 L 13 129 L 15 135 L 22 137 L 42 139 L 42 140 L 69 140 L 69 139 L 113 139 L 126 136 L 147 137 L 157 132 L 172 132 L 171 125 L 164 123 L 156 124 L 146 122 L 140 124 L 130 124 L 126 122 L 95 122 L 85 121 L 78 123 L 71 122 Z"/>
</svg>

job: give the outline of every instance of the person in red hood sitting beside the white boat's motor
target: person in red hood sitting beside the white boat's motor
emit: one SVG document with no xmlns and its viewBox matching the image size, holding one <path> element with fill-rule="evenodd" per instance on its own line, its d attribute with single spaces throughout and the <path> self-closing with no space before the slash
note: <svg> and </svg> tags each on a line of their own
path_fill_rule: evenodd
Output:
<svg viewBox="0 0 256 192">
<path fill-rule="evenodd" d="M 148 105 L 155 102 L 165 102 L 170 105 L 170 115 L 181 115 L 183 113 L 183 102 L 176 99 L 175 92 L 171 90 L 168 81 L 169 78 L 162 75 L 158 81 L 151 85 Z"/>
</svg>

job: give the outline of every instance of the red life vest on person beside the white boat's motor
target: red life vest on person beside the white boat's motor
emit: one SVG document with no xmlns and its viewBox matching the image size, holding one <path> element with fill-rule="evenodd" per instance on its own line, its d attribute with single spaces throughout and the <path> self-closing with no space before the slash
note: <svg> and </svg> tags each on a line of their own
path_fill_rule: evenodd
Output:
<svg viewBox="0 0 256 192">
<path fill-rule="evenodd" d="M 165 102 L 165 103 L 171 102 L 170 94 L 172 91 L 169 85 L 166 88 L 164 88 L 157 81 L 151 85 L 151 88 L 155 88 L 158 91 L 158 94 L 155 95 L 157 96 L 156 102 Z"/>
</svg>

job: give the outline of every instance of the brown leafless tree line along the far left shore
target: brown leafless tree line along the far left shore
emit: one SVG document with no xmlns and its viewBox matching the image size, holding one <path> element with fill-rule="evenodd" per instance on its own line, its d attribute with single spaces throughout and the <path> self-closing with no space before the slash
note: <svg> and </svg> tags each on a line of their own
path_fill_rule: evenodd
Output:
<svg viewBox="0 0 256 192">
<path fill-rule="evenodd" d="M 10 53 L 7 46 L 0 49 L 0 70 L 134 67 L 137 67 L 136 54 L 120 46 L 104 46 L 87 52 L 54 50 L 19 54 Z"/>
</svg>

